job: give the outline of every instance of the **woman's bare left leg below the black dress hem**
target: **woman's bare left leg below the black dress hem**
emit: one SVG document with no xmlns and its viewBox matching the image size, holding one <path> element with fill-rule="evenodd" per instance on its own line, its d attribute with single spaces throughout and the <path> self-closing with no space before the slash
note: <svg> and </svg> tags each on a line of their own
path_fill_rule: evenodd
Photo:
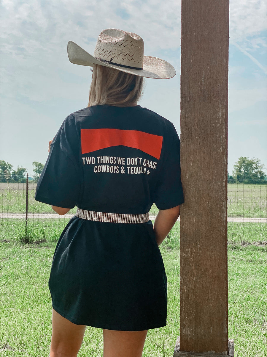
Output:
<svg viewBox="0 0 267 357">
<path fill-rule="evenodd" d="M 52 310 L 52 338 L 49 357 L 77 357 L 86 325 L 75 325 Z"/>
</svg>

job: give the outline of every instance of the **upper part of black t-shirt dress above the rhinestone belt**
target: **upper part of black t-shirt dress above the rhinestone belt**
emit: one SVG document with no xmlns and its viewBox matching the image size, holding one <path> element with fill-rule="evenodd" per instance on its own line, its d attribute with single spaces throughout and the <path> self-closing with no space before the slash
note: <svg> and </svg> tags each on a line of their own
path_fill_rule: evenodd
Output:
<svg viewBox="0 0 267 357">
<path fill-rule="evenodd" d="M 140 214 L 184 202 L 173 124 L 139 105 L 70 114 L 54 137 L 35 199 L 49 205 Z"/>
</svg>

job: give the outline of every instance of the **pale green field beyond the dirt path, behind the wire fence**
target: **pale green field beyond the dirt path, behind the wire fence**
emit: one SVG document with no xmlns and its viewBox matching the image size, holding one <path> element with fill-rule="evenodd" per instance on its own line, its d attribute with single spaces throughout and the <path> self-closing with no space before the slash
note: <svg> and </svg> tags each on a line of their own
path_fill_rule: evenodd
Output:
<svg viewBox="0 0 267 357">
<path fill-rule="evenodd" d="M 54 213 L 45 203 L 34 200 L 36 184 L 29 184 L 28 213 Z M 267 185 L 228 184 L 228 217 L 267 217 Z M 0 212 L 24 213 L 26 209 L 26 183 L 0 183 Z M 70 213 L 75 214 L 73 208 Z M 155 205 L 151 214 L 158 212 Z"/>
</svg>

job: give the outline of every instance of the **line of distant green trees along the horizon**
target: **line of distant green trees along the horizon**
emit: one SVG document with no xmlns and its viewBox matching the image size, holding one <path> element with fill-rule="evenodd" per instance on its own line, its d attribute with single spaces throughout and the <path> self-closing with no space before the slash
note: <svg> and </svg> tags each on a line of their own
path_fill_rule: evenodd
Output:
<svg viewBox="0 0 267 357">
<path fill-rule="evenodd" d="M 39 161 L 33 161 L 34 177 L 31 182 L 37 182 L 44 164 Z M 26 182 L 26 168 L 18 166 L 17 169 L 12 169 L 13 166 L 4 160 L 0 160 L 0 182 Z M 263 171 L 264 165 L 260 159 L 249 159 L 248 157 L 240 156 L 234 165 L 232 175 L 227 173 L 228 183 L 256 183 L 267 184 L 267 176 Z"/>
</svg>

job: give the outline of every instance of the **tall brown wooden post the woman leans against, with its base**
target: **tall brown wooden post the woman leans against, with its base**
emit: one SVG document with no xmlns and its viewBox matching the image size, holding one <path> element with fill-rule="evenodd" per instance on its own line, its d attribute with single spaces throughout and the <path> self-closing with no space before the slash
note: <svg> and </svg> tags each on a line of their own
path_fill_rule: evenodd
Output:
<svg viewBox="0 0 267 357">
<path fill-rule="evenodd" d="M 180 217 L 177 357 L 234 355 L 227 304 L 228 46 L 229 0 L 182 0 L 185 203 Z"/>
</svg>

